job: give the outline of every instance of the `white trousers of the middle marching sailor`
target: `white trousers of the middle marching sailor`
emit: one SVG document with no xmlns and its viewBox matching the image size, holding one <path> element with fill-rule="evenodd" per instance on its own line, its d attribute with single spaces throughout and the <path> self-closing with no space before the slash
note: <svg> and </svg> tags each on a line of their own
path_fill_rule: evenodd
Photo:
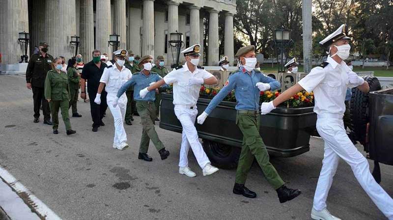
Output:
<svg viewBox="0 0 393 220">
<path fill-rule="evenodd" d="M 189 109 L 178 105 L 175 105 L 174 110 L 177 119 L 179 119 L 183 127 L 179 166 L 188 166 L 188 150 L 191 146 L 200 168 L 203 169 L 206 164 L 210 163 L 210 160 L 203 151 L 202 144 L 200 144 L 198 139 L 197 129 L 195 128 L 195 119 L 197 118 L 198 110 L 196 108 Z"/>
</svg>

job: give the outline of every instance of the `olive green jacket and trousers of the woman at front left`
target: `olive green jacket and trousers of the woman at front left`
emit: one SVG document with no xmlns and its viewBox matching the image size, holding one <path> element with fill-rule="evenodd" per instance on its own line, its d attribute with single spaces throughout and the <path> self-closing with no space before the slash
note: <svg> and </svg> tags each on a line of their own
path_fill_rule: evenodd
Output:
<svg viewBox="0 0 393 220">
<path fill-rule="evenodd" d="M 49 106 L 52 114 L 53 130 L 58 128 L 58 109 L 61 109 L 61 116 L 65 124 L 66 131 L 71 130 L 68 107 L 70 101 L 70 89 L 68 85 L 67 73 L 50 70 L 45 79 L 45 98 L 51 99 Z"/>
</svg>

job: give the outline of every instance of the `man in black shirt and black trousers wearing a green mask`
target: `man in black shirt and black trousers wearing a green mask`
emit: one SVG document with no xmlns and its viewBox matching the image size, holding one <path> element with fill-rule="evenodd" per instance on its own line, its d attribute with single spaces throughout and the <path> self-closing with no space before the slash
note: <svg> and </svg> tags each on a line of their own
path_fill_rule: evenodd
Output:
<svg viewBox="0 0 393 220">
<path fill-rule="evenodd" d="M 87 92 L 89 93 L 89 99 L 94 100 L 97 96 L 98 86 L 100 85 L 100 79 L 107 67 L 107 64 L 101 62 L 101 52 L 99 50 L 93 51 L 93 60 L 84 64 L 82 76 L 81 76 L 81 98 L 86 98 L 85 82 L 87 81 Z M 98 105 L 95 102 L 90 102 L 90 113 L 93 119 L 93 132 L 98 131 L 98 127 L 104 126 L 102 118 L 107 110 L 107 92 L 104 90 L 101 93 L 101 104 Z"/>
</svg>

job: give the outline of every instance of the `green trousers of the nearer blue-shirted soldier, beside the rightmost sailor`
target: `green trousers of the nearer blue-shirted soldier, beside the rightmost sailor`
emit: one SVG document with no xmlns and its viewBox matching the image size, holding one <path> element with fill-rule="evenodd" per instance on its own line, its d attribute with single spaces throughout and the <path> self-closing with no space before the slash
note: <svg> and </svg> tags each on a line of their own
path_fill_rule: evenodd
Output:
<svg viewBox="0 0 393 220">
<path fill-rule="evenodd" d="M 270 163 L 266 146 L 259 135 L 260 114 L 255 111 L 237 111 L 236 124 L 243 133 L 243 145 L 237 165 L 235 182 L 238 184 L 246 182 L 247 174 L 255 157 L 267 181 L 275 190 L 279 189 L 284 185 L 284 181 L 277 173 L 276 168 Z"/>
</svg>

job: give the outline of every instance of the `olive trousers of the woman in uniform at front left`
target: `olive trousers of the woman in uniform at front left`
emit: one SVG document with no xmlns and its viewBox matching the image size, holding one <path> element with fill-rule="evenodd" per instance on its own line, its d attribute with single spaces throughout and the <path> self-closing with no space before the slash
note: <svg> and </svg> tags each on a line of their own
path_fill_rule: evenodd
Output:
<svg viewBox="0 0 393 220">
<path fill-rule="evenodd" d="M 69 101 L 68 100 L 51 100 L 49 102 L 49 108 L 52 114 L 53 130 L 58 128 L 58 110 L 61 109 L 61 116 L 65 124 L 65 130 L 71 130 L 70 117 L 68 116 Z"/>
</svg>

